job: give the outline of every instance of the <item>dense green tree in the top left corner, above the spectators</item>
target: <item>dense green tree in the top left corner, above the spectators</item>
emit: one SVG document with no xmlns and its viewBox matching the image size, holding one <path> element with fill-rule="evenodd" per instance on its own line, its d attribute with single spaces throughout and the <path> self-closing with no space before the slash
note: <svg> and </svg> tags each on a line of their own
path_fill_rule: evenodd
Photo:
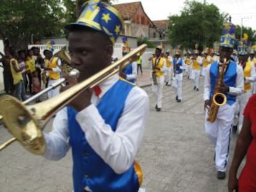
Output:
<svg viewBox="0 0 256 192">
<path fill-rule="evenodd" d="M 16 48 L 42 37 L 63 33 L 61 0 L 1 0 L 0 32 Z"/>
</svg>

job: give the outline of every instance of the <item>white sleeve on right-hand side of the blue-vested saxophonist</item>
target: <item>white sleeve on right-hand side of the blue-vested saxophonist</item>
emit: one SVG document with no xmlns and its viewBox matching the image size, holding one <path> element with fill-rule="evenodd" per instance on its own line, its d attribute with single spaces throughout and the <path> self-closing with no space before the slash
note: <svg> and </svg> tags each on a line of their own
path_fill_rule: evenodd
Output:
<svg viewBox="0 0 256 192">
<path fill-rule="evenodd" d="M 237 96 L 244 91 L 244 70 L 240 65 L 236 65 L 236 86 L 229 86 L 229 94 Z"/>
</svg>

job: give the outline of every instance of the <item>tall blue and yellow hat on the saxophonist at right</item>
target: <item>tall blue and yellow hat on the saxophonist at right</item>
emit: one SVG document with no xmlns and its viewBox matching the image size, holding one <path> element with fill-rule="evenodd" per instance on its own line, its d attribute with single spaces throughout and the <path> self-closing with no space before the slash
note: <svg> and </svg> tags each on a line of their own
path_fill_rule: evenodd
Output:
<svg viewBox="0 0 256 192">
<path fill-rule="evenodd" d="M 236 40 L 236 27 L 233 23 L 228 22 L 224 24 L 223 35 L 221 36 L 220 46 L 224 48 L 234 48 Z"/>
</svg>

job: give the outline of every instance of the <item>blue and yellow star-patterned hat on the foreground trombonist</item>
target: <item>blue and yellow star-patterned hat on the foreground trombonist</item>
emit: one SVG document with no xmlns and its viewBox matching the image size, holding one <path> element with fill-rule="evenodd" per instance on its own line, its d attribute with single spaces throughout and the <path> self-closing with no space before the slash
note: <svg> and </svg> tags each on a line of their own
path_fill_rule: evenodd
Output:
<svg viewBox="0 0 256 192">
<path fill-rule="evenodd" d="M 124 20 L 119 12 L 106 2 L 90 0 L 83 5 L 82 12 L 77 21 L 66 25 L 66 29 L 72 30 L 72 28 L 77 26 L 101 31 L 114 44 L 123 30 Z"/>
</svg>

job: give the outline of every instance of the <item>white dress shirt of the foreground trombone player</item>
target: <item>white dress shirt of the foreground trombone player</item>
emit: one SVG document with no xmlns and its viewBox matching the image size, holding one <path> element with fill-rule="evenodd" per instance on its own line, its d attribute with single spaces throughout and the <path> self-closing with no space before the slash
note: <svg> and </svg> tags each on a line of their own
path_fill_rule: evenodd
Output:
<svg viewBox="0 0 256 192">
<path fill-rule="evenodd" d="M 85 138 L 93 150 L 116 173 L 124 173 L 134 162 L 148 117 L 149 104 L 145 91 L 134 86 L 127 96 L 124 110 L 113 131 L 101 117 L 96 105 L 103 95 L 118 80 L 118 75 L 100 83 L 101 94 L 92 94 L 92 104 L 80 111 L 76 120 L 86 133 Z M 58 160 L 64 157 L 70 148 L 67 107 L 56 115 L 53 131 L 45 133 L 47 159 Z"/>
</svg>

